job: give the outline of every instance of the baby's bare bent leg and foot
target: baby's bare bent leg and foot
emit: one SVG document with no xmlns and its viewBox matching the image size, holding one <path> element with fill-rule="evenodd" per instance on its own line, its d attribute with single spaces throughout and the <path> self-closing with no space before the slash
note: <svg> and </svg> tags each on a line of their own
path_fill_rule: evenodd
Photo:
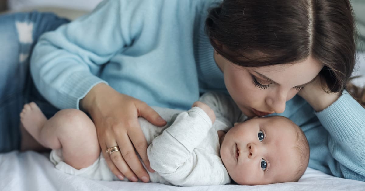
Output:
<svg viewBox="0 0 365 191">
<path fill-rule="evenodd" d="M 95 125 L 80 110 L 61 110 L 47 120 L 39 107 L 31 102 L 24 105 L 20 121 L 43 146 L 62 148 L 65 163 L 76 169 L 92 165 L 100 155 Z"/>
</svg>

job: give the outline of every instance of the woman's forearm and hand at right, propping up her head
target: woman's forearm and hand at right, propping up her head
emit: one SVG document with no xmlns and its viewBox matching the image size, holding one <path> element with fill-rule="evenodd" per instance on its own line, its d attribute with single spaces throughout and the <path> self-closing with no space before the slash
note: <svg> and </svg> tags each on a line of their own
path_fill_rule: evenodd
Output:
<svg viewBox="0 0 365 191">
<path fill-rule="evenodd" d="M 329 133 L 328 149 L 335 162 L 328 158 L 322 160 L 325 160 L 323 162 L 327 163 L 331 173 L 365 181 L 365 109 L 347 91 L 342 95 L 324 92 L 319 77 L 299 95 L 318 111 L 315 114 L 320 126 Z"/>
</svg>

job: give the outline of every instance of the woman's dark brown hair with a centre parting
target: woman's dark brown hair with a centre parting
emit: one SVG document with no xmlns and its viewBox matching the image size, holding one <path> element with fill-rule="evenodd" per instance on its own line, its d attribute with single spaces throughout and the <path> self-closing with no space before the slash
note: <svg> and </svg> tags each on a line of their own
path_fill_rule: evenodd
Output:
<svg viewBox="0 0 365 191">
<path fill-rule="evenodd" d="M 214 49 L 245 67 L 293 64 L 309 56 L 324 64 L 328 91 L 341 92 L 355 65 L 349 0 L 224 0 L 205 28 Z"/>
</svg>

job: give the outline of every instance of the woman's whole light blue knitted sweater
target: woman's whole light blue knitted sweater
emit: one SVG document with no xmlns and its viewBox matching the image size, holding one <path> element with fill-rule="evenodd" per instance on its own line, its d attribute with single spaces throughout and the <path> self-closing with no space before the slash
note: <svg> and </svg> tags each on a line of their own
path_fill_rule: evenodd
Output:
<svg viewBox="0 0 365 191">
<path fill-rule="evenodd" d="M 204 33 L 219 0 L 110 0 L 43 35 L 31 58 L 34 82 L 59 108 L 78 108 L 97 83 L 151 106 L 187 110 L 207 90 L 226 88 Z M 283 114 L 310 143 L 309 166 L 365 181 L 365 109 L 348 94 L 315 113 L 299 96 Z"/>
</svg>

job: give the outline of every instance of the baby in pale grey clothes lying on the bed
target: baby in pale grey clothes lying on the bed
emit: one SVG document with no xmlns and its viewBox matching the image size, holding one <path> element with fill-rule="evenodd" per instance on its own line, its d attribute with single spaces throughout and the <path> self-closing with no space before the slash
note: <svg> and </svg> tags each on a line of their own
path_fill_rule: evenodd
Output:
<svg viewBox="0 0 365 191">
<path fill-rule="evenodd" d="M 247 117 L 230 97 L 205 93 L 199 101 L 188 111 L 153 107 L 168 122 L 164 127 L 138 119 L 156 171 L 147 171 L 151 182 L 258 185 L 295 182 L 303 175 L 309 146 L 295 123 L 282 116 L 235 123 Z M 20 117 L 35 140 L 53 149 L 50 160 L 56 168 L 93 180 L 119 180 L 100 153 L 92 120 L 82 111 L 61 110 L 47 120 L 29 103 Z M 112 157 L 119 148 L 108 152 Z"/>
</svg>

